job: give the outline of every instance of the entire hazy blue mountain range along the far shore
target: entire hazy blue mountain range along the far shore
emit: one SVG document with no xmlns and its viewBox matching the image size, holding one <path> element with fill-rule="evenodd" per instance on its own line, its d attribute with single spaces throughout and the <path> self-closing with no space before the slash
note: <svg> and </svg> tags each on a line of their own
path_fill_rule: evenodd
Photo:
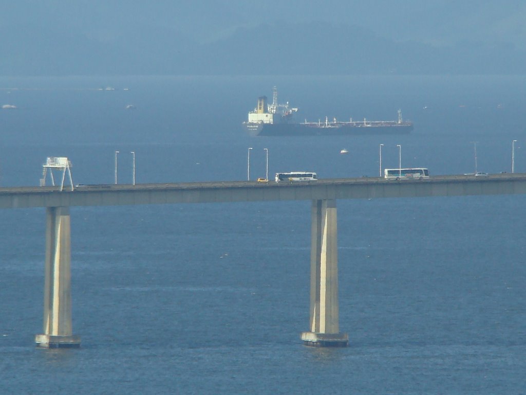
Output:
<svg viewBox="0 0 526 395">
<path fill-rule="evenodd" d="M 103 33 L 3 24 L 0 74 L 522 74 L 526 61 L 509 43 L 395 42 L 325 22 L 243 27 L 207 44 L 176 27 L 130 24 Z"/>
</svg>

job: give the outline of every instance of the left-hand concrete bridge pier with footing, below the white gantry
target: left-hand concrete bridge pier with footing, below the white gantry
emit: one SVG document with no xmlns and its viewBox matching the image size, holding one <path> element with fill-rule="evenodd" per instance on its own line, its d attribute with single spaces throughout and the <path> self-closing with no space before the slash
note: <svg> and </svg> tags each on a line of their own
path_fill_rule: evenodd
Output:
<svg viewBox="0 0 526 395">
<path fill-rule="evenodd" d="M 37 347 L 79 347 L 73 335 L 71 306 L 71 231 L 69 209 L 46 209 L 46 262 L 44 280 L 44 333 Z"/>
</svg>

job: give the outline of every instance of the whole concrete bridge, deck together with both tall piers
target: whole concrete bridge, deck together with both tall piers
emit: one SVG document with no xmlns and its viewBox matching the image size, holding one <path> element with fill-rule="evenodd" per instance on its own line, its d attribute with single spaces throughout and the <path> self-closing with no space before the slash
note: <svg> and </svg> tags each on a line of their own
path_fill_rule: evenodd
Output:
<svg viewBox="0 0 526 395">
<path fill-rule="evenodd" d="M 301 333 L 307 345 L 345 347 L 338 310 L 338 199 L 525 194 L 526 174 L 433 176 L 424 180 L 379 177 L 308 182 L 200 182 L 0 188 L 0 209 L 46 208 L 43 333 L 38 347 L 79 347 L 73 334 L 70 288 L 70 216 L 75 206 L 310 200 L 310 320 Z"/>
</svg>

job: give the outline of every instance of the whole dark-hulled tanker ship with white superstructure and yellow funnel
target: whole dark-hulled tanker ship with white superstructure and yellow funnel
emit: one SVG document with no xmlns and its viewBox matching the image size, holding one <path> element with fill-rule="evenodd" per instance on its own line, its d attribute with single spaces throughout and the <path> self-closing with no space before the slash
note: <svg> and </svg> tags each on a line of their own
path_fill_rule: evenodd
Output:
<svg viewBox="0 0 526 395">
<path fill-rule="evenodd" d="M 243 127 L 251 136 L 325 136 L 325 135 L 367 135 L 367 134 L 408 134 L 413 130 L 411 121 L 402 119 L 402 112 L 398 110 L 398 120 L 395 121 L 329 121 L 294 122 L 296 107 L 289 107 L 289 103 L 278 104 L 278 90 L 272 89 L 272 104 L 267 103 L 267 96 L 258 98 L 254 111 L 248 113 L 248 121 Z"/>
</svg>

